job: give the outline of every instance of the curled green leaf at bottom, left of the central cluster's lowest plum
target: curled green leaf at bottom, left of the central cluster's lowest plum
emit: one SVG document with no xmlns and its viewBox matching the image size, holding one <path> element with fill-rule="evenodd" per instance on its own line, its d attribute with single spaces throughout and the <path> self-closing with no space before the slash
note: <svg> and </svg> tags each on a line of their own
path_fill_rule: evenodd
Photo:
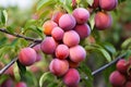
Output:
<svg viewBox="0 0 131 87">
<path fill-rule="evenodd" d="M 43 84 L 46 82 L 53 83 L 55 82 L 55 76 L 50 72 L 46 72 L 41 75 L 39 79 L 39 87 L 43 87 Z M 51 86 L 50 86 L 51 87 Z"/>
</svg>

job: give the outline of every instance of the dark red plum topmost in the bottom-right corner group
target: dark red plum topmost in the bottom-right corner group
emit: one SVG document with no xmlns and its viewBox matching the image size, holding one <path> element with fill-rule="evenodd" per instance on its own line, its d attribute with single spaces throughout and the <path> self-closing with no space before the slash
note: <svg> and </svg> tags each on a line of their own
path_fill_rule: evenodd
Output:
<svg viewBox="0 0 131 87">
<path fill-rule="evenodd" d="M 121 59 L 117 62 L 116 67 L 120 73 L 127 74 L 129 64 L 124 59 Z"/>
</svg>

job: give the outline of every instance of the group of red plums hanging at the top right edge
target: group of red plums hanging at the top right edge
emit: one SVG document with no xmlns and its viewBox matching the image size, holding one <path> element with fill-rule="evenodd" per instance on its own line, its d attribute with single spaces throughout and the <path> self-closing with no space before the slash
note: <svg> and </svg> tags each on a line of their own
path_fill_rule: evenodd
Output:
<svg viewBox="0 0 131 87">
<path fill-rule="evenodd" d="M 98 30 L 107 29 L 112 24 L 112 17 L 111 14 L 109 14 L 109 11 L 112 11 L 116 9 L 118 4 L 118 0 L 94 0 L 92 9 L 100 9 L 95 14 L 95 27 Z"/>
</svg>

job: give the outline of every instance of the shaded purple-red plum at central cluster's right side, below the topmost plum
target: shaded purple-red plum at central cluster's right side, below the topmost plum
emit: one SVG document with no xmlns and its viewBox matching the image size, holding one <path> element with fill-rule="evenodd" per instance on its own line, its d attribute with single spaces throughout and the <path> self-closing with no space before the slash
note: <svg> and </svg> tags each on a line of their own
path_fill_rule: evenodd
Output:
<svg viewBox="0 0 131 87">
<path fill-rule="evenodd" d="M 81 24 L 81 25 L 76 25 L 74 27 L 74 30 L 80 35 L 81 39 L 86 38 L 91 34 L 91 28 L 86 23 Z"/>
</svg>

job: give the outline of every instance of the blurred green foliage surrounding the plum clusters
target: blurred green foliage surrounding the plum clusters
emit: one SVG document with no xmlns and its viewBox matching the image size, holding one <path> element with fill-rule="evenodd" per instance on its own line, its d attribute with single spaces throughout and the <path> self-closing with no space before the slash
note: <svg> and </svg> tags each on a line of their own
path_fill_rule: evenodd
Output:
<svg viewBox="0 0 131 87">
<path fill-rule="evenodd" d="M 76 0 L 76 7 L 87 9 L 93 4 L 94 0 Z M 63 11 L 72 13 L 72 0 L 39 0 L 34 4 L 35 9 L 20 11 L 16 7 L 9 7 L 0 9 L 0 28 L 5 28 L 10 34 L 19 34 L 25 37 L 32 37 L 43 40 L 45 35 L 43 34 L 43 24 L 47 20 L 51 18 L 51 15 L 56 11 Z M 119 7 L 111 11 L 114 17 L 112 26 L 107 30 L 96 30 L 94 23 L 94 15 L 97 10 L 92 13 L 88 24 L 92 28 L 90 37 L 81 41 L 81 45 L 86 49 L 87 59 L 78 67 L 81 74 L 82 87 L 93 87 L 93 82 L 100 82 L 94 79 L 92 71 L 95 71 L 106 63 L 115 60 L 119 54 L 128 51 L 126 59 L 131 55 L 131 18 L 130 18 L 130 0 L 119 0 Z M 15 14 L 14 14 L 15 13 Z M 0 30 L 1 32 L 1 30 Z M 23 38 L 9 36 L 9 34 L 0 33 L 0 64 L 3 66 L 9 64 L 19 51 L 28 47 L 33 41 L 28 41 Z M 50 55 L 43 53 L 43 60 L 35 63 L 34 69 L 38 72 L 34 72 L 32 66 L 23 66 L 19 61 L 14 64 L 13 72 L 15 72 L 14 83 L 20 80 L 26 80 L 29 87 L 66 87 L 60 77 L 56 77 L 48 70 L 48 64 L 51 60 Z M 2 66 L 2 67 L 3 67 Z M 0 69 L 2 69 L 0 65 Z M 106 69 L 102 74 L 106 79 L 107 87 L 110 87 L 108 83 L 108 76 L 115 69 Z M 8 78 L 7 74 L 0 76 L 0 84 Z M 103 79 L 104 79 L 103 78 Z M 95 85 L 96 83 L 94 83 Z M 95 87 L 98 87 L 97 84 Z"/>
</svg>

